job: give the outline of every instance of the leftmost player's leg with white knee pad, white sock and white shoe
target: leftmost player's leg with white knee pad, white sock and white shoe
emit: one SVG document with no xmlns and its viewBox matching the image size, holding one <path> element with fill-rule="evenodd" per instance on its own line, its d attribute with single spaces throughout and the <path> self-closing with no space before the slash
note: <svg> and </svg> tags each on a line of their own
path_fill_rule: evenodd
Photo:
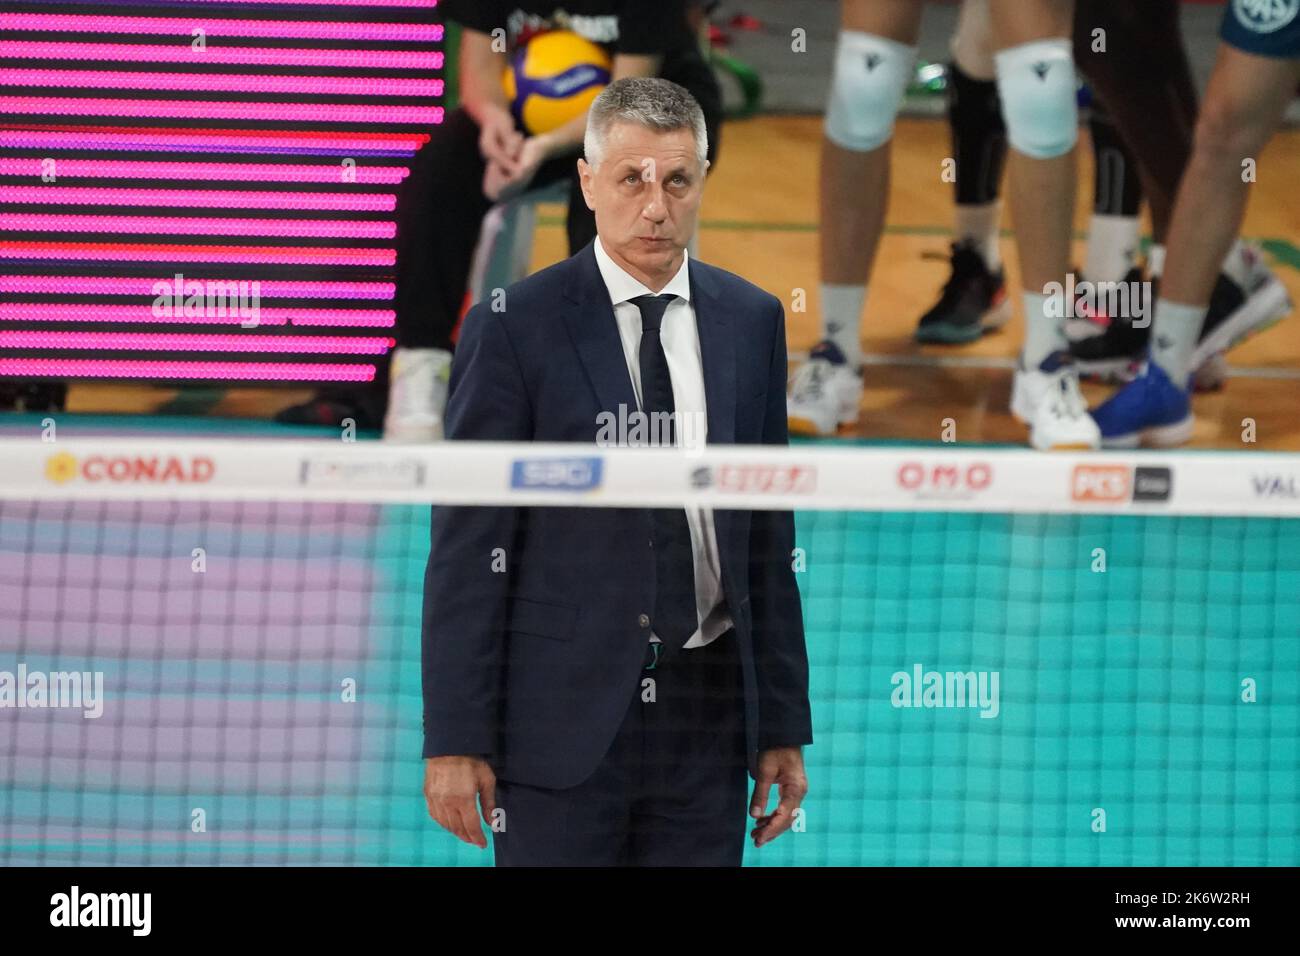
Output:
<svg viewBox="0 0 1300 956">
<path fill-rule="evenodd" d="M 822 341 L 794 373 L 790 431 L 858 419 L 867 280 L 889 198 L 889 140 L 916 57 L 920 0 L 842 0 L 822 142 Z"/>
</svg>

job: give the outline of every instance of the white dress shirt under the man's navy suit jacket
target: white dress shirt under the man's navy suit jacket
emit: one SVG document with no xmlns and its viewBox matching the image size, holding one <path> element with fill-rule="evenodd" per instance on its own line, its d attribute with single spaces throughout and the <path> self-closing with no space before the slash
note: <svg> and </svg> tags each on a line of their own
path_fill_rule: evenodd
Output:
<svg viewBox="0 0 1300 956">
<path fill-rule="evenodd" d="M 686 271 L 688 255 L 681 256 L 681 268 L 668 285 L 653 293 L 641 285 L 641 280 L 628 274 L 621 265 L 604 251 L 601 239 L 595 241 L 595 264 L 610 291 L 614 306 L 614 319 L 619 324 L 619 338 L 623 339 L 623 358 L 632 376 L 632 389 L 641 407 L 641 310 L 632 302 L 638 295 L 676 295 L 663 313 L 659 326 L 659 339 L 668 359 L 668 373 L 672 376 L 673 419 L 681 425 L 675 428 L 676 445 L 682 438 L 690 438 L 701 446 L 707 441 L 707 419 L 705 405 L 705 371 L 699 356 L 699 330 L 696 328 L 696 310 L 690 304 L 690 276 Z M 621 416 L 620 416 L 621 418 Z M 712 509 L 686 509 L 686 524 L 690 527 L 690 551 L 696 562 L 696 622 L 697 628 L 686 641 L 686 648 L 702 648 L 715 640 L 732 626 L 727 602 L 723 600 L 722 568 L 718 562 L 718 535 L 714 531 Z M 650 635 L 658 641 L 658 635 Z"/>
</svg>

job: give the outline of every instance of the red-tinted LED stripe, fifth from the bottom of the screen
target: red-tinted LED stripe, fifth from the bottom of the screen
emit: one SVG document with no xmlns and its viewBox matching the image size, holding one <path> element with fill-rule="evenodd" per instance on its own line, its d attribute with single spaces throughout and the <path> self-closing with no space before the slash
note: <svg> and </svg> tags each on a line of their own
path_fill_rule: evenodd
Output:
<svg viewBox="0 0 1300 956">
<path fill-rule="evenodd" d="M 129 246 L 95 242 L 0 242 L 0 259 L 88 259 L 121 263 L 261 263 L 266 265 L 387 265 L 391 248 L 292 246 Z"/>
</svg>

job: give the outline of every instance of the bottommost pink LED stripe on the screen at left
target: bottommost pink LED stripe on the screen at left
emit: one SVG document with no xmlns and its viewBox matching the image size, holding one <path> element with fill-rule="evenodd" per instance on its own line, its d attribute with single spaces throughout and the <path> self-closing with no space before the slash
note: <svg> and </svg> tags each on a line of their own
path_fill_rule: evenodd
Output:
<svg viewBox="0 0 1300 956">
<path fill-rule="evenodd" d="M 0 376 L 61 378 L 233 378 L 235 381 L 374 381 L 374 365 L 294 362 L 147 362 L 133 359 L 0 359 Z"/>
</svg>

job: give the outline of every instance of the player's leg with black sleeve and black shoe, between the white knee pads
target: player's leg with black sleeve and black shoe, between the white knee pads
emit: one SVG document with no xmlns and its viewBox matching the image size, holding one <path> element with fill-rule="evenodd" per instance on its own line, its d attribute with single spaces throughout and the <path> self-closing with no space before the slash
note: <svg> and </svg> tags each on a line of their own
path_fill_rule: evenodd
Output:
<svg viewBox="0 0 1300 956">
<path fill-rule="evenodd" d="M 957 163 L 950 274 L 918 342 L 972 342 L 1011 313 L 998 250 L 1006 126 L 993 72 L 988 0 L 962 0 L 952 39 L 948 126 Z"/>
</svg>

